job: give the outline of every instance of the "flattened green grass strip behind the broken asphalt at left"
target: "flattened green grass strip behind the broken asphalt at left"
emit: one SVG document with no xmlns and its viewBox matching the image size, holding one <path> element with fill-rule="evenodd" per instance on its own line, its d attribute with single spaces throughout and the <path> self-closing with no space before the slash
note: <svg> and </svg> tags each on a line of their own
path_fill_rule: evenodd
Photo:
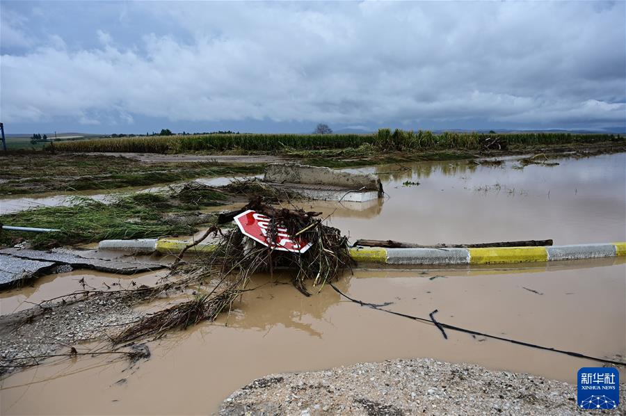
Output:
<svg viewBox="0 0 626 416">
<path fill-rule="evenodd" d="M 73 197 L 68 207 L 41 207 L 0 216 L 0 223 L 41 227 L 59 232 L 1 232 L 0 246 L 17 238 L 29 239 L 33 248 L 52 248 L 106 239 L 145 239 L 197 231 L 193 225 L 167 221 L 170 212 L 193 211 L 220 205 L 224 193 L 202 184 L 186 184 L 171 193 L 134 193 L 111 196 L 109 203 Z"/>
</svg>

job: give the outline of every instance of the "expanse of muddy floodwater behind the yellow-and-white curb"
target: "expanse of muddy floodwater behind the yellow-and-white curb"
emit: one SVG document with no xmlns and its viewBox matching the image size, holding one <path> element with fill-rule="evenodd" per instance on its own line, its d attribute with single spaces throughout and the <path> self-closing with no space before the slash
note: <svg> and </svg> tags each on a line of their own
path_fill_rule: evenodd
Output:
<svg viewBox="0 0 626 416">
<path fill-rule="evenodd" d="M 352 237 L 417 243 L 554 239 L 555 244 L 626 241 L 626 154 L 514 160 L 504 167 L 465 161 L 360 169 L 380 175 L 389 197 L 363 211 L 337 209 L 333 225 Z M 403 182 L 419 182 L 404 186 Z M 335 205 L 313 204 L 325 214 Z"/>
</svg>

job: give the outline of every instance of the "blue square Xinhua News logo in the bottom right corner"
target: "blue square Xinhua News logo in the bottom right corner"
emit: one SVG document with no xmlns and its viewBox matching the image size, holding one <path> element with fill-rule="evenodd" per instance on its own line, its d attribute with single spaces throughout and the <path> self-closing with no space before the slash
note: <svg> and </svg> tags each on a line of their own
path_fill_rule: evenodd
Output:
<svg viewBox="0 0 626 416">
<path fill-rule="evenodd" d="M 615 409 L 620 405 L 620 373 L 613 367 L 578 370 L 578 406 L 581 409 Z"/>
</svg>

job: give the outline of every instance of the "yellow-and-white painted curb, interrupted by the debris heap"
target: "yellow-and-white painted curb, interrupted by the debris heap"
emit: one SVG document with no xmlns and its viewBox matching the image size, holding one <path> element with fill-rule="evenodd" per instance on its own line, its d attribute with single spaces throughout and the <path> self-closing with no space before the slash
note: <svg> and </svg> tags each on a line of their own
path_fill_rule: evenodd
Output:
<svg viewBox="0 0 626 416">
<path fill-rule="evenodd" d="M 176 239 L 104 240 L 101 250 L 157 251 L 180 253 L 193 241 Z M 187 253 L 209 253 L 215 246 L 200 243 Z M 358 263 L 376 264 L 497 264 L 553 262 L 556 260 L 592 259 L 626 255 L 626 242 L 574 244 L 545 247 L 495 248 L 380 248 L 353 247 L 350 255 Z"/>
</svg>

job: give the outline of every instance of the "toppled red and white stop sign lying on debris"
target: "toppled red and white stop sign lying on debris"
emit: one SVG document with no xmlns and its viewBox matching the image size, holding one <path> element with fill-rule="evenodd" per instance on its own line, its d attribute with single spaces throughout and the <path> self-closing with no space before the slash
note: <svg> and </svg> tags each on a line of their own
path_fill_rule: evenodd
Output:
<svg viewBox="0 0 626 416">
<path fill-rule="evenodd" d="M 248 211 L 234 217 L 234 222 L 239 226 L 239 230 L 243 234 L 274 250 L 304 253 L 311 246 L 311 243 L 302 237 L 296 237 L 295 239 L 291 237 L 287 232 L 287 228 L 282 227 L 280 224 L 276 227 L 274 241 L 268 241 L 267 229 L 270 221 L 270 218 L 257 211 L 252 211 L 252 209 L 248 209 Z"/>
</svg>

